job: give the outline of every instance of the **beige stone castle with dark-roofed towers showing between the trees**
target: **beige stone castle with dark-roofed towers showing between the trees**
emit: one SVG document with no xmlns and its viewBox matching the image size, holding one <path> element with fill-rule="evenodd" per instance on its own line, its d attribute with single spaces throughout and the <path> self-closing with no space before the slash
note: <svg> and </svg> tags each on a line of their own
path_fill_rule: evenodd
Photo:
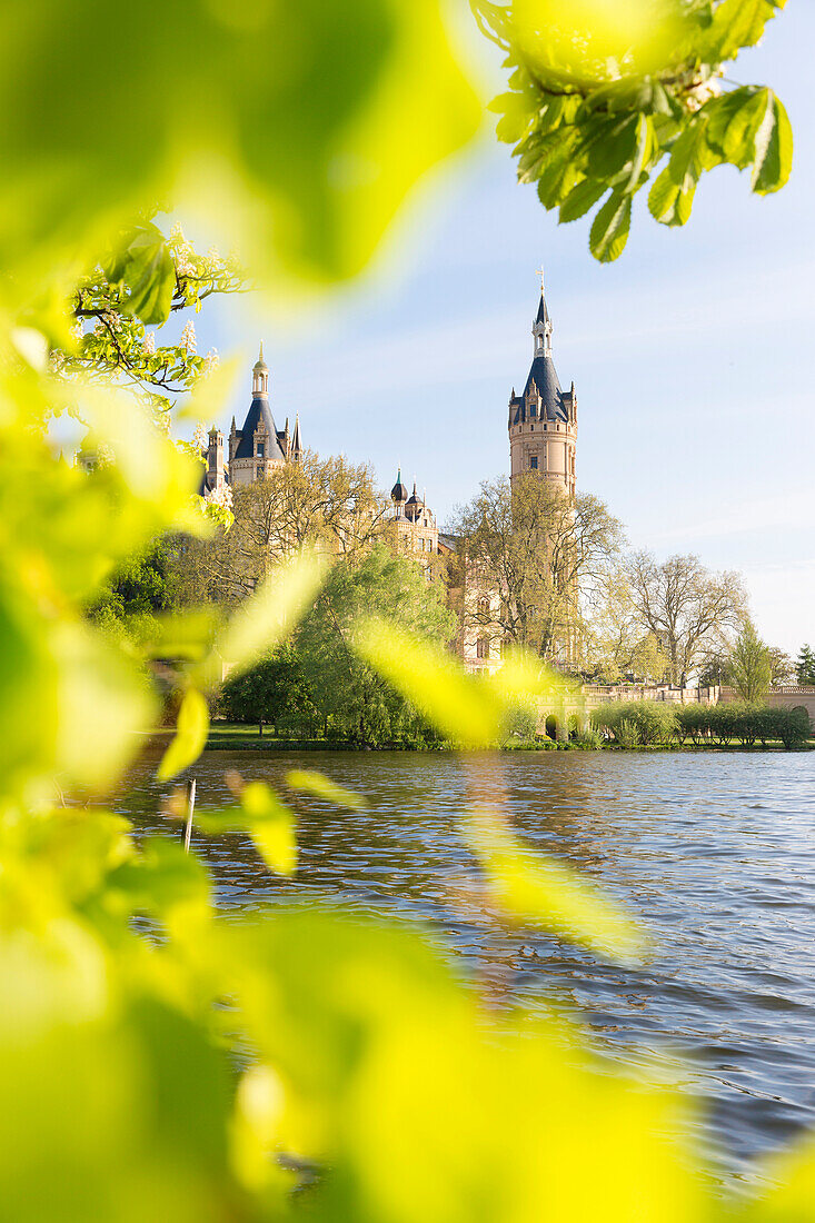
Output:
<svg viewBox="0 0 815 1223">
<path fill-rule="evenodd" d="M 520 395 L 513 388 L 509 397 L 509 456 L 510 477 L 521 472 L 537 472 L 567 497 L 576 489 L 575 460 L 578 445 L 578 396 L 574 383 L 568 391 L 562 390 L 552 358 L 552 319 L 546 303 L 543 283 L 537 314 L 532 322 L 532 363 Z M 226 444 L 225 444 L 226 443 Z M 242 427 L 239 429 L 233 417 L 229 437 L 220 429 L 210 429 L 208 446 L 203 455 L 207 471 L 202 492 L 220 497 L 225 488 L 240 488 L 256 481 L 267 479 L 275 467 L 299 462 L 303 455 L 300 416 L 294 428 L 286 418 L 278 429 L 269 402 L 269 369 L 263 360 L 263 346 L 252 369 L 252 401 Z M 449 559 L 456 549 L 456 539 L 438 530 L 436 515 L 414 481 L 409 492 L 396 473 L 390 489 L 393 526 L 401 550 L 415 555 L 430 567 L 434 558 Z M 477 582 L 469 583 L 465 599 L 488 600 L 498 609 L 498 592 L 488 592 Z M 497 632 L 488 634 L 483 626 L 464 626 L 459 636 L 459 653 L 470 671 L 493 671 L 501 667 L 502 643 Z"/>
</svg>

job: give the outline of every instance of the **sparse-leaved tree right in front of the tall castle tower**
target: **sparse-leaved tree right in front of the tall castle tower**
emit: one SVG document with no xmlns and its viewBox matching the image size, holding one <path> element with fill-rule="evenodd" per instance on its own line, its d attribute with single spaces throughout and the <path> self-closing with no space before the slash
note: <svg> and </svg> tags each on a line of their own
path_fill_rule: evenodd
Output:
<svg viewBox="0 0 815 1223">
<path fill-rule="evenodd" d="M 596 497 L 565 497 L 534 472 L 482 483 L 450 531 L 460 539 L 453 585 L 464 592 L 464 627 L 549 659 L 563 656 L 581 597 L 622 542 L 620 523 Z"/>
</svg>

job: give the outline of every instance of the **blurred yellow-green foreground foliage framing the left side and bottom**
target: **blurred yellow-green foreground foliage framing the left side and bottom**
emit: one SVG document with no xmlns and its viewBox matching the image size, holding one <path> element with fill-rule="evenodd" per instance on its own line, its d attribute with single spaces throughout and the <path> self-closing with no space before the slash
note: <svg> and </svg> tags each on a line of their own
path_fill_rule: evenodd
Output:
<svg viewBox="0 0 815 1223">
<path fill-rule="evenodd" d="M 332 1223 L 721 1214 L 691 1170 L 675 1093 L 601 1070 L 563 1019 L 489 1010 L 415 932 L 316 901 L 218 920 L 174 824 L 136 843 L 100 806 L 159 709 L 137 659 L 86 610 L 126 558 L 207 521 L 191 501 L 199 464 L 137 397 L 86 383 L 80 402 L 49 368 L 49 349 L 69 351 L 66 302 L 173 187 L 261 238 L 262 274 L 356 272 L 477 120 L 437 6 L 33 0 L 6 6 L 2 23 L 4 1214 L 253 1223 L 292 1214 L 297 1188 Z M 159 240 L 131 232 L 120 254 L 105 273 L 126 286 L 120 305 L 135 300 L 142 324 L 164 314 Z M 177 286 L 177 260 L 173 275 Z M 104 462 L 60 460 L 49 426 L 69 411 Z M 162 777 L 201 748 L 224 668 L 245 671 L 284 640 L 324 580 L 305 558 L 225 624 L 157 620 L 153 654 L 181 660 L 182 689 Z M 370 621 L 355 647 L 460 741 L 538 681 L 519 662 L 505 685 L 478 690 L 474 722 L 472 690 L 432 651 L 411 675 L 399 637 Z M 295 801 L 351 805 L 313 777 L 288 784 Z M 231 785 L 228 810 L 199 802 L 197 829 L 248 832 L 285 887 L 292 805 L 261 783 Z M 570 872 L 538 868 L 507 833 L 474 848 L 492 905 L 513 920 L 633 949 L 630 923 Z M 791 1156 L 782 1190 L 728 1217 L 805 1218 L 813 1167 L 810 1150 Z"/>
</svg>

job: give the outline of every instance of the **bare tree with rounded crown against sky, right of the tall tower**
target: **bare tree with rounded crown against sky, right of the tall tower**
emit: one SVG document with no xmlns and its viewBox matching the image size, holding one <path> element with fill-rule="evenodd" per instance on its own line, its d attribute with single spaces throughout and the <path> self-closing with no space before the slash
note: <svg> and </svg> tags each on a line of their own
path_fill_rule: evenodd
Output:
<svg viewBox="0 0 815 1223">
<path fill-rule="evenodd" d="M 732 643 L 746 616 L 746 592 L 735 572 L 712 574 L 699 556 L 634 553 L 628 577 L 636 614 L 668 660 L 668 678 L 683 687 L 704 660 Z"/>
</svg>

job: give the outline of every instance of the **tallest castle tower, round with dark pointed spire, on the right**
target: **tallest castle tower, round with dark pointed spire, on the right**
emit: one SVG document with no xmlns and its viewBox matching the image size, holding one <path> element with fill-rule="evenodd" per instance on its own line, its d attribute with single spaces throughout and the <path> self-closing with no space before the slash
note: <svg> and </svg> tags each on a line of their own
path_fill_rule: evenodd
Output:
<svg viewBox="0 0 815 1223">
<path fill-rule="evenodd" d="M 532 364 L 521 395 L 509 397 L 510 476 L 535 471 L 552 487 L 574 497 L 578 443 L 578 396 L 574 383 L 560 390 L 552 360 L 552 319 L 543 291 L 532 323 Z"/>
</svg>

